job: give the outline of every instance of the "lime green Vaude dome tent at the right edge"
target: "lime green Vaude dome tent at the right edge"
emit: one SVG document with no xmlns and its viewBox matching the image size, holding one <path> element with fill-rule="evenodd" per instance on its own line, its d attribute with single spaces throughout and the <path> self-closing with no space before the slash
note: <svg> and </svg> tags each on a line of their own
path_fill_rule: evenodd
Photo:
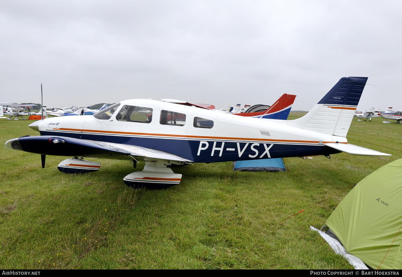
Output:
<svg viewBox="0 0 402 277">
<path fill-rule="evenodd" d="M 373 269 L 402 269 L 402 159 L 361 180 L 326 226 L 347 253 Z"/>
</svg>

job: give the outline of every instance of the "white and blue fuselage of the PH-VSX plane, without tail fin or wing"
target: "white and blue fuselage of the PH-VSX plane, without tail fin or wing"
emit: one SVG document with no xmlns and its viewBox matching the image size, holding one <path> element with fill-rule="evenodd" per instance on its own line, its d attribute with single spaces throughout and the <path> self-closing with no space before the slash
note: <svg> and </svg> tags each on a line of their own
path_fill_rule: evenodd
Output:
<svg viewBox="0 0 402 277">
<path fill-rule="evenodd" d="M 127 119 L 123 108 L 129 106 L 152 111 L 152 116 L 142 121 Z M 175 113 L 177 119 L 162 122 L 166 111 Z M 210 125 L 197 127 L 197 120 Z M 324 143 L 347 143 L 345 137 L 290 127 L 283 120 L 239 117 L 149 99 L 122 101 L 107 119 L 96 115 L 49 118 L 38 121 L 37 128 L 41 135 L 142 146 L 194 162 L 329 155 L 339 151 Z"/>
</svg>

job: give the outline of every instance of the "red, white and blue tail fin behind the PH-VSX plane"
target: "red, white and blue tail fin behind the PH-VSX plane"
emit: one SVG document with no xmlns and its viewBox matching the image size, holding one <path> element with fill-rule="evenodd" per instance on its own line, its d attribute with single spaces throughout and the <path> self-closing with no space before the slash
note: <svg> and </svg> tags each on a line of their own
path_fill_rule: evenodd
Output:
<svg viewBox="0 0 402 277">
<path fill-rule="evenodd" d="M 234 115 L 254 117 L 254 118 L 268 118 L 268 119 L 281 119 L 286 120 L 290 109 L 295 101 L 296 95 L 283 94 L 279 99 L 272 104 L 269 109 L 255 113 L 234 113 Z"/>
</svg>

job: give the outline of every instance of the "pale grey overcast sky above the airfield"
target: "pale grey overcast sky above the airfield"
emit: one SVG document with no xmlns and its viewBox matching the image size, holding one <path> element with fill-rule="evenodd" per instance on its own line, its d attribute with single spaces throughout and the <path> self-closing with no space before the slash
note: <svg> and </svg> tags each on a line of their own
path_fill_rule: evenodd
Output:
<svg viewBox="0 0 402 277">
<path fill-rule="evenodd" d="M 217 108 L 369 77 L 358 109 L 402 109 L 402 1 L 0 2 L 0 102 L 173 98 Z M 237 95 L 237 96 L 236 96 Z"/>
</svg>

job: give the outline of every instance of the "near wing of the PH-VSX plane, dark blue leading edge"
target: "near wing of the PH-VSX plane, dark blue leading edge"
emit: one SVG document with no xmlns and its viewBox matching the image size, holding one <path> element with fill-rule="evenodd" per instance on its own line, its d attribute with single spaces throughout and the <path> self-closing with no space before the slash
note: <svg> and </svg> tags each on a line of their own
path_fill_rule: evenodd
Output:
<svg viewBox="0 0 402 277">
<path fill-rule="evenodd" d="M 78 156 L 116 160 L 173 160 L 179 162 L 193 162 L 185 158 L 140 146 L 95 142 L 72 137 L 39 135 L 34 137 L 19 137 L 9 140 L 6 148 L 25 152 L 53 155 Z"/>
</svg>

